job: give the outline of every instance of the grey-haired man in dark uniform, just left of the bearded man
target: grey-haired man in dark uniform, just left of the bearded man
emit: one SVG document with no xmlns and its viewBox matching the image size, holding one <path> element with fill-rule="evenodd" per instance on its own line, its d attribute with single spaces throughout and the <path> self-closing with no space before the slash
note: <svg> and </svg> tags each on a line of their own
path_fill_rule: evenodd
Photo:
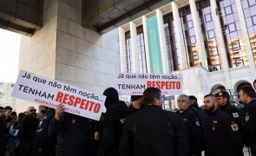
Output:
<svg viewBox="0 0 256 156">
<path fill-rule="evenodd" d="M 200 127 L 200 120 L 196 114 L 189 108 L 188 96 L 181 94 L 178 97 L 178 107 L 181 119 L 187 129 L 188 140 L 190 143 L 190 154 L 200 156 L 202 151 L 202 130 Z"/>
</svg>

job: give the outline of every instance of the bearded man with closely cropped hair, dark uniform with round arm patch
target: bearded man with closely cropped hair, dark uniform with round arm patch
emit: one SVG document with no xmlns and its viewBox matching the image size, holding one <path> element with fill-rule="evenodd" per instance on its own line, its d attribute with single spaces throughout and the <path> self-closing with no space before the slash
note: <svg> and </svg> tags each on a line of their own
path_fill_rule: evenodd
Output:
<svg viewBox="0 0 256 156">
<path fill-rule="evenodd" d="M 206 156 L 238 156 L 243 147 L 242 133 L 236 120 L 218 108 L 216 98 L 207 94 L 204 98 L 208 114 L 202 121 Z"/>
</svg>

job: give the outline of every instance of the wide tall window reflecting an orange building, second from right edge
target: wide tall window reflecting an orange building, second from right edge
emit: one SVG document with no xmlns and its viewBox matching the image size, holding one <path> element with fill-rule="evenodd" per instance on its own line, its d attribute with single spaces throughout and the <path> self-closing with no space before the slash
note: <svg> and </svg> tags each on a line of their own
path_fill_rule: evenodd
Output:
<svg viewBox="0 0 256 156">
<path fill-rule="evenodd" d="M 246 1 L 246 0 L 244 0 Z M 248 57 L 245 41 L 240 29 L 240 21 L 235 1 L 217 0 L 218 9 L 221 10 L 220 23 L 223 29 L 228 62 L 232 68 L 247 65 Z"/>
</svg>

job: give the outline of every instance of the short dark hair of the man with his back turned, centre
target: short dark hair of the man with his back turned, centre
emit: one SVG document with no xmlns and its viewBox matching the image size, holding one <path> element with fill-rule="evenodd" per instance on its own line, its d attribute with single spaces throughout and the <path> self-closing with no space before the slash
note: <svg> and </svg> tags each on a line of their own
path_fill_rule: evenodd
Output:
<svg viewBox="0 0 256 156">
<path fill-rule="evenodd" d="M 161 90 L 159 88 L 147 88 L 143 92 L 144 105 L 148 105 L 154 102 L 154 98 L 161 98 Z"/>
</svg>

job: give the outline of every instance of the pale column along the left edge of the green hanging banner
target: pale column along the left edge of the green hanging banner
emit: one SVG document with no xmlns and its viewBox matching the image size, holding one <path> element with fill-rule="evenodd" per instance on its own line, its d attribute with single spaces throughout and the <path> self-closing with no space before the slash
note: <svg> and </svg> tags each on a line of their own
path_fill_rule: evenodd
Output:
<svg viewBox="0 0 256 156">
<path fill-rule="evenodd" d="M 148 47 L 147 19 L 148 19 L 147 16 L 142 16 L 143 35 L 144 35 L 145 51 L 146 51 L 146 61 L 147 61 L 147 70 L 148 70 L 148 73 L 151 73 L 150 58 L 149 58 L 149 47 Z"/>
</svg>

